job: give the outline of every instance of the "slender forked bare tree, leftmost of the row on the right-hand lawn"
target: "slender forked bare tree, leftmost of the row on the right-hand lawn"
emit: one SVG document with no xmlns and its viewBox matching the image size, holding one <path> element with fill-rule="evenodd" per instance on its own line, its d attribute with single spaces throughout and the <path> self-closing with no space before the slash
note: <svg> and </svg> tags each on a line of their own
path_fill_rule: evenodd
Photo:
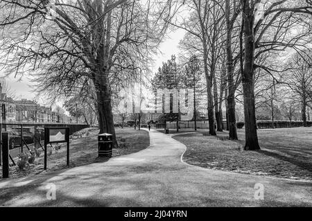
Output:
<svg viewBox="0 0 312 221">
<path fill-rule="evenodd" d="M 207 87 L 207 111 L 209 120 L 209 134 L 216 135 L 214 128 L 214 105 L 216 105 L 216 118 L 218 127 L 220 125 L 220 113 L 218 112 L 218 92 L 214 78 L 216 78 L 216 68 L 224 43 L 224 13 L 223 3 L 218 1 L 193 0 L 187 3 L 191 9 L 191 15 L 182 24 L 173 24 L 179 28 L 187 30 L 181 47 L 191 54 L 198 55 L 202 59 L 203 71 L 206 78 Z M 214 93 L 213 93 L 214 88 Z"/>
</svg>

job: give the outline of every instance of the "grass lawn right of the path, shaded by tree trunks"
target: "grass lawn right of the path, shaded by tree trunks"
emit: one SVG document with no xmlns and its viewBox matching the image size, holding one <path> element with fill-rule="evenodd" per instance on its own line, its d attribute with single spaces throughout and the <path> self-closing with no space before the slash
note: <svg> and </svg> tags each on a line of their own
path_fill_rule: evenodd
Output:
<svg viewBox="0 0 312 221">
<path fill-rule="evenodd" d="M 312 127 L 258 130 L 261 150 L 243 151 L 245 135 L 239 141 L 225 139 L 227 133 L 204 136 L 202 132 L 174 136 L 187 145 L 184 161 L 239 173 L 312 180 Z"/>
</svg>

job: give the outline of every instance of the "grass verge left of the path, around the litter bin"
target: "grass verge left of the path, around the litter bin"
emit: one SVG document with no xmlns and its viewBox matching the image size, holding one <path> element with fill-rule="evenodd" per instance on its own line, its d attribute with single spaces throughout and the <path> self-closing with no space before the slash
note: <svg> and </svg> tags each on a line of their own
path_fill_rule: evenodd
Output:
<svg viewBox="0 0 312 221">
<path fill-rule="evenodd" d="M 99 130 L 89 128 L 88 135 L 81 138 L 76 137 L 70 143 L 69 167 L 83 166 L 89 163 L 98 162 L 101 160 L 98 157 L 98 132 Z M 112 157 L 130 154 L 143 150 L 150 145 L 148 132 L 144 130 L 134 130 L 133 128 L 116 128 L 116 139 L 119 142 L 119 148 L 113 149 Z M 61 170 L 66 166 L 66 143 L 61 145 L 60 150 L 49 148 L 52 154 L 48 156 L 47 171 Z M 16 163 L 16 162 L 15 162 Z M 26 170 L 19 170 L 17 166 L 10 167 L 10 177 L 24 177 L 26 175 L 34 175 L 42 173 L 44 169 L 44 153 L 35 159 L 33 164 L 28 166 Z M 2 168 L 0 166 L 0 179 L 2 178 Z"/>
</svg>

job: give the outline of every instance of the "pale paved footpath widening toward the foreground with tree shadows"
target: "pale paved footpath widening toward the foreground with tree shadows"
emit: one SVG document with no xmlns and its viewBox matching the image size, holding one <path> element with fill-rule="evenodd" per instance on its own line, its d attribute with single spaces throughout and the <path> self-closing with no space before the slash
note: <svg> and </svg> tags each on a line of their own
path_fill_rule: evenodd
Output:
<svg viewBox="0 0 312 221">
<path fill-rule="evenodd" d="M 150 147 L 102 163 L 0 182 L 2 206 L 312 206 L 312 183 L 184 163 L 186 147 L 150 130 Z M 263 200 L 254 199 L 263 184 Z M 47 200 L 55 184 L 56 200 Z"/>
</svg>

